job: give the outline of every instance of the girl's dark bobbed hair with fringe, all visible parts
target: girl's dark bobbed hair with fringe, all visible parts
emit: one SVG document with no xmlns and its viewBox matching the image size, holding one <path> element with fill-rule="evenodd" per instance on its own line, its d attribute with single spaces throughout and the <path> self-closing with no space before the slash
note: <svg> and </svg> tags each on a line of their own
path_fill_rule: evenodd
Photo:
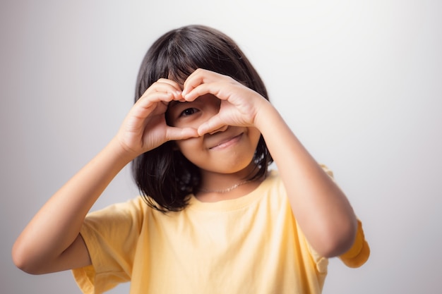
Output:
<svg viewBox="0 0 442 294">
<path fill-rule="evenodd" d="M 165 33 L 150 47 L 138 72 L 135 101 L 160 78 L 183 84 L 197 68 L 229 75 L 268 99 L 263 81 L 231 38 L 211 27 L 189 25 Z M 262 136 L 253 161 L 256 169 L 249 179 L 265 176 L 273 159 Z M 186 207 L 187 196 L 201 181 L 198 167 L 171 141 L 141 154 L 132 167 L 141 195 L 150 207 L 161 212 Z"/>
</svg>

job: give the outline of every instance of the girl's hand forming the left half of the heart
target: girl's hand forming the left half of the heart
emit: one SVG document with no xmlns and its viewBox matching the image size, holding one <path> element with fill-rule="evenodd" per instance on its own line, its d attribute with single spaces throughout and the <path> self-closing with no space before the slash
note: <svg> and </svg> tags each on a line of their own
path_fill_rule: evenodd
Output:
<svg viewBox="0 0 442 294">
<path fill-rule="evenodd" d="M 167 125 L 165 112 L 173 100 L 184 101 L 181 88 L 177 82 L 165 78 L 157 80 L 143 93 L 117 133 L 117 141 L 125 152 L 137 157 L 169 140 L 198 137 L 193 128 Z"/>
</svg>

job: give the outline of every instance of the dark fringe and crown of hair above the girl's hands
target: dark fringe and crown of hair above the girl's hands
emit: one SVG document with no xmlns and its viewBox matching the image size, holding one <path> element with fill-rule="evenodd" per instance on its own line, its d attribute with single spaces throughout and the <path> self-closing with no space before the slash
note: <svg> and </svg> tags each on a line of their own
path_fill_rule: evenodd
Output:
<svg viewBox="0 0 442 294">
<path fill-rule="evenodd" d="M 249 64 L 245 63 L 248 61 L 237 45 L 220 32 L 201 26 L 174 30 L 157 39 L 146 54 L 139 71 L 136 100 L 160 78 L 183 85 L 197 68 L 229 75 L 258 90 L 253 87 L 247 72 Z"/>
</svg>

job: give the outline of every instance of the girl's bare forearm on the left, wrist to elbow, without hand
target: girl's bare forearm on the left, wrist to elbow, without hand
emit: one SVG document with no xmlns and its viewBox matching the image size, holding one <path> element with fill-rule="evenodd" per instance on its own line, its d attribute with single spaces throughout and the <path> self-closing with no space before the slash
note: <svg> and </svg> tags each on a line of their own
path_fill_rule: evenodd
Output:
<svg viewBox="0 0 442 294">
<path fill-rule="evenodd" d="M 104 147 L 28 223 L 13 246 L 14 262 L 24 270 L 51 271 L 52 262 L 77 240 L 92 204 L 129 161 L 114 140 Z"/>
</svg>

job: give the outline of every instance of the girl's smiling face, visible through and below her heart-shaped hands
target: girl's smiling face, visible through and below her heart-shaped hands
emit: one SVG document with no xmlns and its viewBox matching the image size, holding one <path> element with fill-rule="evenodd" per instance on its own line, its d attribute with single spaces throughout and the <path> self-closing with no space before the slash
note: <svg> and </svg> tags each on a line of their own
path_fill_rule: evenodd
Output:
<svg viewBox="0 0 442 294">
<path fill-rule="evenodd" d="M 167 121 L 179 128 L 198 128 L 220 111 L 220 103 L 212 94 L 193 102 L 171 102 Z M 202 172 L 235 173 L 251 164 L 260 137 L 257 128 L 226 125 L 213 133 L 176 142 L 184 157 Z"/>
</svg>

